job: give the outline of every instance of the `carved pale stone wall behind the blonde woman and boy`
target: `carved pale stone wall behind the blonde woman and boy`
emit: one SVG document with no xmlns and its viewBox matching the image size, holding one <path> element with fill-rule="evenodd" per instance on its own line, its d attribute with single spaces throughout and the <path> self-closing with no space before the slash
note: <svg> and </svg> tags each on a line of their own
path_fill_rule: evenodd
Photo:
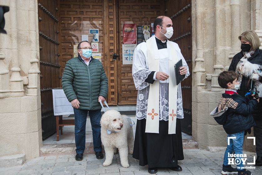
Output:
<svg viewBox="0 0 262 175">
<path fill-rule="evenodd" d="M 192 137 L 199 148 L 226 146 L 223 127 L 209 115 L 224 92 L 217 76 L 240 52 L 242 32 L 251 29 L 262 37 L 261 5 L 262 0 L 192 0 Z M 244 148 L 255 151 L 252 140 L 245 139 Z"/>
</svg>

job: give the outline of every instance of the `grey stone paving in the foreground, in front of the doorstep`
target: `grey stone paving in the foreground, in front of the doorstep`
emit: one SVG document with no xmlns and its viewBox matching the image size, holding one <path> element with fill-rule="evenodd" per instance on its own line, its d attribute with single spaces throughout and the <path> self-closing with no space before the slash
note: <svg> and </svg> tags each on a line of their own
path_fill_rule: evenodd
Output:
<svg viewBox="0 0 262 175">
<path fill-rule="evenodd" d="M 253 161 L 255 153 L 244 152 L 248 162 Z M 167 168 L 159 168 L 157 174 L 172 175 L 221 175 L 224 151 L 201 149 L 184 149 L 185 159 L 179 161 L 182 172 L 174 172 Z M 1 175 L 146 175 L 147 166 L 139 166 L 138 161 L 129 155 L 129 168 L 123 168 L 119 155 L 114 155 L 113 163 L 103 167 L 104 159 L 98 160 L 94 154 L 84 155 L 82 161 L 75 161 L 75 155 L 43 156 L 27 161 L 22 166 L 0 168 Z M 252 166 L 254 167 L 254 166 Z M 250 169 L 253 175 L 261 175 L 262 167 Z"/>
</svg>

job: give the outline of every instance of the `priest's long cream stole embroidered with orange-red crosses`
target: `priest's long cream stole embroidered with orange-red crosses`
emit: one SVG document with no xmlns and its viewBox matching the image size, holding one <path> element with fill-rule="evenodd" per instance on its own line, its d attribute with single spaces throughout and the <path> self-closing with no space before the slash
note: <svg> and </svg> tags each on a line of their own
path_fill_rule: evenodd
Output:
<svg viewBox="0 0 262 175">
<path fill-rule="evenodd" d="M 147 57 L 149 70 L 159 71 L 159 53 L 155 36 L 150 37 L 147 41 Z M 175 80 L 174 65 L 178 62 L 177 53 L 172 48 L 172 42 L 167 40 L 168 63 L 169 63 L 169 92 L 168 92 L 168 134 L 176 133 L 177 123 L 177 85 Z M 150 84 L 146 133 L 159 133 L 159 80 Z"/>
</svg>

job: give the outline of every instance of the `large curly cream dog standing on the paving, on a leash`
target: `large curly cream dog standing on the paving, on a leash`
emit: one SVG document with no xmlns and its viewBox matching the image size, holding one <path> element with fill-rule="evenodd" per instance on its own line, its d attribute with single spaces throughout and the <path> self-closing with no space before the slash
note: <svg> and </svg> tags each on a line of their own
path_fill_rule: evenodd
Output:
<svg viewBox="0 0 262 175">
<path fill-rule="evenodd" d="M 101 117 L 101 141 L 105 151 L 104 167 L 111 165 L 116 148 L 119 150 L 122 167 L 129 167 L 128 153 L 133 154 L 134 136 L 132 122 L 127 118 L 116 110 L 106 111 Z"/>
</svg>

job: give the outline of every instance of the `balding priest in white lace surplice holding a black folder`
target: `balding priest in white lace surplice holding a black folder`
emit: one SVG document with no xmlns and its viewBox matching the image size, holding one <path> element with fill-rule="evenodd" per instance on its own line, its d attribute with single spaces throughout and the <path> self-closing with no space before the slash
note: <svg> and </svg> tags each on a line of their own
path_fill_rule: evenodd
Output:
<svg viewBox="0 0 262 175">
<path fill-rule="evenodd" d="M 182 92 L 174 65 L 182 59 L 179 71 L 185 78 L 189 69 L 177 43 L 167 40 L 173 35 L 172 26 L 169 17 L 157 17 L 155 35 L 138 44 L 133 54 L 132 75 L 138 89 L 133 158 L 140 166 L 148 164 L 148 173 L 157 173 L 158 168 L 182 171 L 177 161 L 184 159 Z"/>
</svg>

